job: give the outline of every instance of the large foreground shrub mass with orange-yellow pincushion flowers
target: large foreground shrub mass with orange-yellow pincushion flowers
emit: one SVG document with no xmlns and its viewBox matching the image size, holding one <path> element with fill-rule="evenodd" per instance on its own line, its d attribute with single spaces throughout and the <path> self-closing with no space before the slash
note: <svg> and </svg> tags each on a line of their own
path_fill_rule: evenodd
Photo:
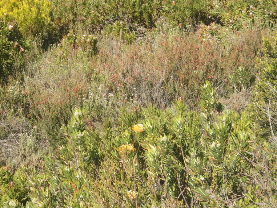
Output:
<svg viewBox="0 0 277 208">
<path fill-rule="evenodd" d="M 255 184 L 251 174 L 262 168 L 262 156 L 250 154 L 259 141 L 247 115 L 222 112 L 208 81 L 201 93 L 202 113 L 180 101 L 165 110 L 122 110 L 100 130 L 86 128 L 85 112 L 73 110 L 63 129 L 67 144 L 45 157 L 41 173 L 23 169 L 26 176 L 11 179 L 11 188 L 0 169 L 1 206 L 272 206 L 271 186 Z"/>
</svg>

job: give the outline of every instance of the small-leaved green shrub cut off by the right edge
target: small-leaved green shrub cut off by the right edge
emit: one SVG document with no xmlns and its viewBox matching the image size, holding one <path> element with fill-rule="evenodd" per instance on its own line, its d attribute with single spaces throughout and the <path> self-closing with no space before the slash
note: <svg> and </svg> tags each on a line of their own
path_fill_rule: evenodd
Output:
<svg viewBox="0 0 277 208">
<path fill-rule="evenodd" d="M 272 138 L 276 144 L 277 133 L 277 35 L 263 39 L 264 57 L 259 60 L 256 85 L 253 88 L 252 104 L 248 111 L 258 125 L 258 133 Z"/>
</svg>

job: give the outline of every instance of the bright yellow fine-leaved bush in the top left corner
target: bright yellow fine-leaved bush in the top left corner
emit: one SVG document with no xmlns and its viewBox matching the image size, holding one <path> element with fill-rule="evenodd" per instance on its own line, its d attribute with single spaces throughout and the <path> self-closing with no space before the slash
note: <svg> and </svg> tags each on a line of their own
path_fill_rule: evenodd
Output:
<svg viewBox="0 0 277 208">
<path fill-rule="evenodd" d="M 47 0 L 0 0 L 0 16 L 16 21 L 24 36 L 42 33 L 50 23 Z"/>
</svg>

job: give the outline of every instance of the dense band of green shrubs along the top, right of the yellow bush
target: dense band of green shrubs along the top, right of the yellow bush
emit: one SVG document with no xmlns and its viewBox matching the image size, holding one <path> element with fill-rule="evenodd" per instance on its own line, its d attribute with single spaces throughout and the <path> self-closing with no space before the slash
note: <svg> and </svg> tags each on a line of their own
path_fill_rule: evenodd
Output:
<svg viewBox="0 0 277 208">
<path fill-rule="evenodd" d="M 228 26 L 234 30 L 276 25 L 276 2 L 267 1 L 52 1 L 52 22 L 61 31 L 86 29 L 140 40 L 151 29 L 189 29 L 199 25 Z M 76 27 L 77 26 L 77 27 Z M 184 31 L 185 31 L 184 30 Z M 211 34 L 209 34 L 211 35 Z M 226 34 L 223 34 L 226 35 Z"/>
</svg>

